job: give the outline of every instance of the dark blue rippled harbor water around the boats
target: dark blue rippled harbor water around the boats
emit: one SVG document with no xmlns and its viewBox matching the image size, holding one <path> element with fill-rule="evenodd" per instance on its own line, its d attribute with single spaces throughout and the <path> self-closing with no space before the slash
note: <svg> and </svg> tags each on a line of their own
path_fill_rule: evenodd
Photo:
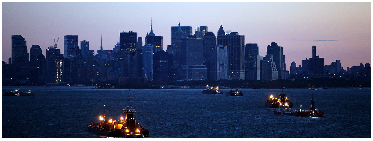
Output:
<svg viewBox="0 0 373 141">
<path fill-rule="evenodd" d="M 298 109 L 308 109 L 314 94 L 325 118 L 310 118 L 264 107 L 281 89 L 241 89 L 244 96 L 235 97 L 201 89 L 90 88 L 22 87 L 35 96 L 3 96 L 3 138 L 105 138 L 87 125 L 103 112 L 119 120 L 129 95 L 148 138 L 370 138 L 370 89 L 284 89 Z"/>
</svg>

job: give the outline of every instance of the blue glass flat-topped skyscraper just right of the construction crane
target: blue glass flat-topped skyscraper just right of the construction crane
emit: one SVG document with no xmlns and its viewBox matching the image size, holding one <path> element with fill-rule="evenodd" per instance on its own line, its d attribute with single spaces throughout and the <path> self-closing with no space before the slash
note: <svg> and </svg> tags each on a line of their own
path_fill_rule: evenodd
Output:
<svg viewBox="0 0 373 141">
<path fill-rule="evenodd" d="M 63 36 L 63 55 L 65 58 L 73 61 L 76 57 L 76 48 L 78 46 L 78 35 Z"/>
</svg>

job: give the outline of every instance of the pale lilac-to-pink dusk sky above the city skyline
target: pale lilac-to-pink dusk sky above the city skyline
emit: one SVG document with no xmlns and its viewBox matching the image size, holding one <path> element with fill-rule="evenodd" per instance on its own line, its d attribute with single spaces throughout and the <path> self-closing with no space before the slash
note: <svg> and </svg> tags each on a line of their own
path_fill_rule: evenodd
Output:
<svg viewBox="0 0 373 141">
<path fill-rule="evenodd" d="M 286 70 L 291 62 L 316 55 L 324 65 L 337 59 L 342 67 L 370 64 L 370 3 L 2 3 L 3 61 L 12 53 L 12 35 L 26 39 L 28 52 L 40 45 L 45 55 L 57 42 L 63 53 L 63 36 L 78 35 L 90 49 L 112 50 L 120 32 L 150 32 L 163 36 L 163 49 L 171 45 L 171 26 L 208 26 L 217 35 L 225 32 L 245 35 L 246 43 L 257 43 L 266 56 L 271 42 L 283 47 Z M 144 43 L 143 43 L 144 44 Z"/>
</svg>

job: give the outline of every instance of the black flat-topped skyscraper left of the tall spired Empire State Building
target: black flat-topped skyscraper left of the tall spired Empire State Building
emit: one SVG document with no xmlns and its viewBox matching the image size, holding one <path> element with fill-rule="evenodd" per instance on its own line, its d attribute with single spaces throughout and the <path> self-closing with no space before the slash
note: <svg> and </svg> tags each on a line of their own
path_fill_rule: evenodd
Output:
<svg viewBox="0 0 373 141">
<path fill-rule="evenodd" d="M 137 47 L 137 32 L 120 32 L 120 50 L 129 52 L 130 62 L 134 62 Z"/>
</svg>

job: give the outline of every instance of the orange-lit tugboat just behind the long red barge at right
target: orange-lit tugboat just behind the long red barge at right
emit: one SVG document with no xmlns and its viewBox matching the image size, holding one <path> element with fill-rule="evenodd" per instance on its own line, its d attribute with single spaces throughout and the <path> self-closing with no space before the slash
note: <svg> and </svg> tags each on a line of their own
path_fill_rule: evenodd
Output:
<svg viewBox="0 0 373 141">
<path fill-rule="evenodd" d="M 264 105 L 270 108 L 293 108 L 293 102 L 289 101 L 289 99 L 285 97 L 286 95 L 283 93 L 283 88 L 279 96 L 280 99 L 277 99 L 271 95 L 269 99 L 264 101 Z"/>
</svg>

